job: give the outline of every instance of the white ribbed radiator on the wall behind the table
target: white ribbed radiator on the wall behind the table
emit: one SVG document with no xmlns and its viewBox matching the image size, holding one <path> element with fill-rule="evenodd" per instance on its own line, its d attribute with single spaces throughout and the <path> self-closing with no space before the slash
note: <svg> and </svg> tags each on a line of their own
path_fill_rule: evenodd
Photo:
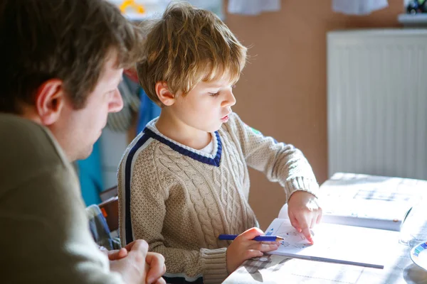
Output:
<svg viewBox="0 0 427 284">
<path fill-rule="evenodd" d="M 427 30 L 327 34 L 328 172 L 427 180 Z"/>
</svg>

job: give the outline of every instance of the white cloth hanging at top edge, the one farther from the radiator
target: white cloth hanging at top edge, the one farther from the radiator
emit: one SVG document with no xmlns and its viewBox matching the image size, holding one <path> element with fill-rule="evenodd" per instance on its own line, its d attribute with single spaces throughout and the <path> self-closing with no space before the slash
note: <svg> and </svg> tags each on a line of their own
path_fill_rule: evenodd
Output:
<svg viewBox="0 0 427 284">
<path fill-rule="evenodd" d="M 280 10 L 280 0 L 229 0 L 228 13 L 258 15 Z"/>
</svg>

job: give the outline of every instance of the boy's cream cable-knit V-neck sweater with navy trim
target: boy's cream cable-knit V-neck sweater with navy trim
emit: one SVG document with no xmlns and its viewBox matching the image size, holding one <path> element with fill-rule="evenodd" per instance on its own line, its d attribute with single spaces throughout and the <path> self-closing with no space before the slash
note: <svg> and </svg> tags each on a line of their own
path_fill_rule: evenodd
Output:
<svg viewBox="0 0 427 284">
<path fill-rule="evenodd" d="M 316 195 L 318 185 L 304 155 L 294 146 L 265 137 L 231 114 L 212 133 L 209 155 L 163 136 L 157 119 L 130 144 L 118 172 L 122 244 L 145 239 L 166 258 L 167 277 L 221 283 L 227 241 L 257 226 L 248 204 L 248 166 L 292 192 Z M 266 192 L 267 193 L 267 192 Z M 199 279 L 200 281 L 200 279 Z"/>
</svg>

